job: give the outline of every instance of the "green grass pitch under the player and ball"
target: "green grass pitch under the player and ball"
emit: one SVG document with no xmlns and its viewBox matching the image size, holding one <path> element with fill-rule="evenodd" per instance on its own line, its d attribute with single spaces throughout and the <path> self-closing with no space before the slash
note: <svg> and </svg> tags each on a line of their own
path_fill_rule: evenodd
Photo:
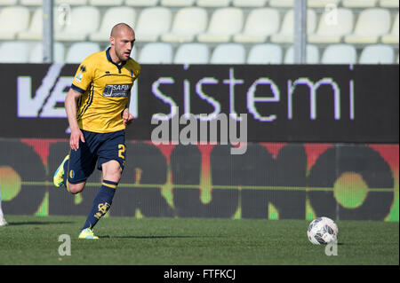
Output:
<svg viewBox="0 0 400 283">
<path fill-rule="evenodd" d="M 100 240 L 78 240 L 84 216 L 5 216 L 0 264 L 359 265 L 399 264 L 399 224 L 337 221 L 337 255 L 307 238 L 309 221 L 104 217 Z M 68 234 L 71 255 L 60 255 Z"/>
</svg>

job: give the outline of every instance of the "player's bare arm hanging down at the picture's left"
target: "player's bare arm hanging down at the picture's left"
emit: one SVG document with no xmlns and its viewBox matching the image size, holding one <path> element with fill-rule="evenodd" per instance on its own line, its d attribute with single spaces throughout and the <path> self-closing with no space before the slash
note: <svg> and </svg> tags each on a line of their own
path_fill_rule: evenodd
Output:
<svg viewBox="0 0 400 283">
<path fill-rule="evenodd" d="M 79 148 L 79 140 L 84 143 L 84 134 L 79 129 L 79 125 L 76 120 L 76 100 L 81 95 L 82 93 L 71 88 L 68 90 L 67 97 L 65 98 L 65 110 L 67 112 L 69 129 L 71 130 L 69 146 L 75 151 Z"/>
</svg>

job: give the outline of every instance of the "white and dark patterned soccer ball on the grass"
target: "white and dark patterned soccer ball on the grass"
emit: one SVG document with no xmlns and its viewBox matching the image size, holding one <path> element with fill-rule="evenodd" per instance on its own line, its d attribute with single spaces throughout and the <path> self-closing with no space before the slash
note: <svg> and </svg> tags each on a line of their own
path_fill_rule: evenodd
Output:
<svg viewBox="0 0 400 283">
<path fill-rule="evenodd" d="M 338 240 L 339 229 L 331 218 L 318 217 L 308 226 L 308 240 L 314 245 L 329 244 Z"/>
</svg>

